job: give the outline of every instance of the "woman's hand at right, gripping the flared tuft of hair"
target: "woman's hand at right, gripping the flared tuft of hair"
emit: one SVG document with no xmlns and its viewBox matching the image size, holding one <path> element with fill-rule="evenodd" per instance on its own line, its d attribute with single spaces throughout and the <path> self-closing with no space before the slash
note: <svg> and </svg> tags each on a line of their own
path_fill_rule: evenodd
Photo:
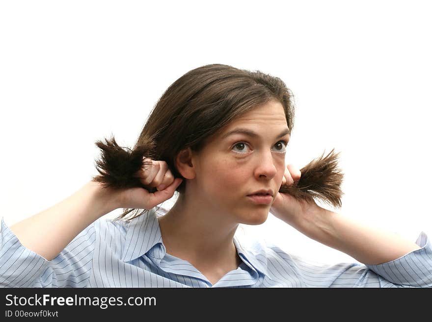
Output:
<svg viewBox="0 0 432 322">
<path fill-rule="evenodd" d="M 289 164 L 285 168 L 285 173 L 282 178 L 282 185 L 293 185 L 294 181 L 300 179 L 301 172 L 294 165 Z M 270 212 L 280 220 L 288 223 L 294 228 L 300 228 L 301 224 L 305 220 L 311 219 L 311 217 L 323 210 L 320 206 L 315 203 L 314 199 L 310 201 L 298 200 L 289 194 L 283 194 L 278 192 L 277 196 L 270 207 Z"/>
</svg>

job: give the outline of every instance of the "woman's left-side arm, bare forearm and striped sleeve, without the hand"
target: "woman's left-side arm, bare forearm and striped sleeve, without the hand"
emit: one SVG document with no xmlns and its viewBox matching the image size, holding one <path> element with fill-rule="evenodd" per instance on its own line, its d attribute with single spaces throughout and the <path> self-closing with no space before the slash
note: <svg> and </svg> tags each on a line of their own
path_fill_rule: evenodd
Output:
<svg viewBox="0 0 432 322">
<path fill-rule="evenodd" d="M 97 233 L 92 223 L 115 209 L 114 200 L 89 182 L 13 230 L 1 220 L 0 286 L 85 287 Z"/>
</svg>

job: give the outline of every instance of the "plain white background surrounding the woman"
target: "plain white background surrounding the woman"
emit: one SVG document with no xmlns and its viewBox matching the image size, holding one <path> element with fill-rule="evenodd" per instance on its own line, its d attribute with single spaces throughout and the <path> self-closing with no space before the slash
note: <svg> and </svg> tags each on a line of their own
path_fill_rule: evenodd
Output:
<svg viewBox="0 0 432 322">
<path fill-rule="evenodd" d="M 327 209 L 411 241 L 431 234 L 427 3 L 2 1 L 0 216 L 11 225 L 71 195 L 98 174 L 97 140 L 132 147 L 172 82 L 221 63 L 294 92 L 287 163 L 341 152 L 342 208 Z M 243 227 L 306 258 L 354 261 L 271 215 Z"/>
</svg>

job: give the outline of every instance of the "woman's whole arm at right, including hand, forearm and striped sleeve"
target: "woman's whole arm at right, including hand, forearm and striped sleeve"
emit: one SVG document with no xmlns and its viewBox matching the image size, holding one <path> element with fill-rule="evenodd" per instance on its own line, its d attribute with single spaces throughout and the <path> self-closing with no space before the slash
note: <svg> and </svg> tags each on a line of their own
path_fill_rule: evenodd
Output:
<svg viewBox="0 0 432 322">
<path fill-rule="evenodd" d="M 293 184 L 300 175 L 288 165 L 282 183 Z M 319 207 L 313 198 L 294 198 L 285 193 L 277 195 L 270 212 L 309 238 L 365 263 L 308 264 L 283 255 L 310 286 L 432 287 L 432 245 L 424 232 L 414 244 Z"/>
</svg>

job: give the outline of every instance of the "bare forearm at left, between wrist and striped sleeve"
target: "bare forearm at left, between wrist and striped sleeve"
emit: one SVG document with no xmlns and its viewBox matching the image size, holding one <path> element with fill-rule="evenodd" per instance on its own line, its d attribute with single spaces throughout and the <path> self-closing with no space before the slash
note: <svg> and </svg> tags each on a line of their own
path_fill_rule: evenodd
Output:
<svg viewBox="0 0 432 322">
<path fill-rule="evenodd" d="M 116 209 L 112 196 L 99 183 L 90 181 L 71 196 L 10 229 L 24 247 L 52 260 L 90 223 Z"/>
</svg>

